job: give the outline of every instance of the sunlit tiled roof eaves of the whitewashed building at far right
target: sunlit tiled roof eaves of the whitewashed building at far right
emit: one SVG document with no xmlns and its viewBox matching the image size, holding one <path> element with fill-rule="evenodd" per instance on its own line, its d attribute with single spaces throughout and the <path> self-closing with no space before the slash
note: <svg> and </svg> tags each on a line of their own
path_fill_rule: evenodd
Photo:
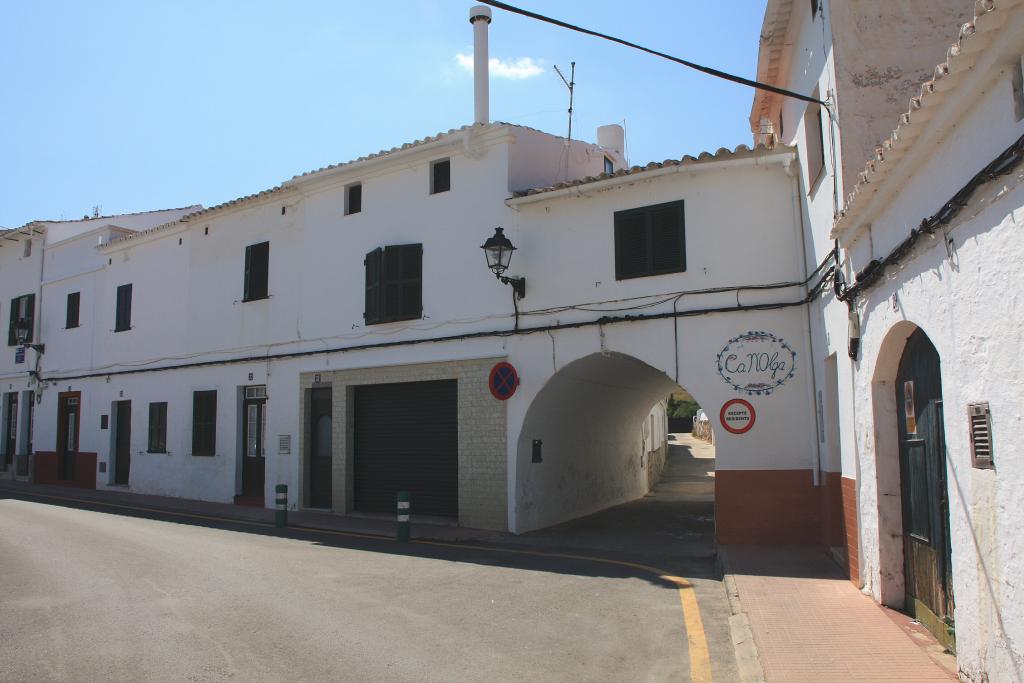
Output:
<svg viewBox="0 0 1024 683">
<path fill-rule="evenodd" d="M 946 60 L 935 68 L 933 76 L 910 98 L 909 108 L 899 116 L 899 123 L 888 138 L 874 150 L 874 156 L 857 176 L 857 183 L 847 196 L 836 217 L 829 237 L 839 239 L 852 227 L 857 215 L 869 200 L 885 186 L 885 180 L 898 161 L 928 128 L 936 109 L 959 86 L 989 45 L 988 38 L 1009 22 L 1009 9 L 1021 0 L 975 0 L 974 19 L 961 27 L 959 36 L 946 51 Z"/>
</svg>

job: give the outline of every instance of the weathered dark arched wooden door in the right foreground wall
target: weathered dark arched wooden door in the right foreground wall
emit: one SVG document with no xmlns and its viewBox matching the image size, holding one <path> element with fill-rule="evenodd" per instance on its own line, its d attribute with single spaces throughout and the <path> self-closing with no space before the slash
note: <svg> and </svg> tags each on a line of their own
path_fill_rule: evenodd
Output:
<svg viewBox="0 0 1024 683">
<path fill-rule="evenodd" d="M 952 646 L 953 595 L 939 353 L 921 330 L 896 380 L 907 611 Z"/>
</svg>

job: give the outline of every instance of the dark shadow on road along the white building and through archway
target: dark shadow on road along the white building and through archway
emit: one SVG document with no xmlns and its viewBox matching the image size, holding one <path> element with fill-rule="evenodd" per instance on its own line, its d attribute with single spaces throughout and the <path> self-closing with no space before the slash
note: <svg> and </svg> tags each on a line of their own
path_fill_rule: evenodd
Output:
<svg viewBox="0 0 1024 683">
<path fill-rule="evenodd" d="M 218 516 L 213 504 L 195 509 L 147 507 L 122 494 L 117 503 L 105 492 L 58 490 L 40 486 L 0 487 L 0 500 L 13 499 L 151 519 L 165 523 L 224 529 L 263 537 L 294 539 L 328 548 L 388 553 L 410 557 L 550 571 L 586 577 L 643 579 L 677 590 L 678 586 L 644 565 L 687 579 L 720 579 L 714 545 L 714 459 L 700 457 L 699 446 L 685 439 L 670 441 L 665 473 L 646 497 L 587 517 L 521 536 L 490 533 L 478 540 L 416 538 L 399 543 L 383 533 L 289 526 L 270 523 L 272 512 L 257 510 L 248 519 Z M 699 444 L 700 442 L 696 442 Z M 230 506 L 216 506 L 230 510 Z M 299 516 L 299 515 L 296 515 Z M 344 517 L 330 515 L 335 520 Z M 326 517 L 325 517 L 326 518 Z M 386 529 L 387 525 L 377 524 Z"/>
</svg>

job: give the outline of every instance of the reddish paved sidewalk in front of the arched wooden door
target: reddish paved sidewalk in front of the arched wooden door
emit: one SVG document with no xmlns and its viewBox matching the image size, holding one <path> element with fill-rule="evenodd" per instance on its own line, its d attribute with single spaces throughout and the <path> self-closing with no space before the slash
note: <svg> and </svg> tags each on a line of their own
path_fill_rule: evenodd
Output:
<svg viewBox="0 0 1024 683">
<path fill-rule="evenodd" d="M 861 594 L 820 549 L 730 546 L 723 556 L 768 683 L 956 680 L 955 659 L 924 629 Z"/>
</svg>

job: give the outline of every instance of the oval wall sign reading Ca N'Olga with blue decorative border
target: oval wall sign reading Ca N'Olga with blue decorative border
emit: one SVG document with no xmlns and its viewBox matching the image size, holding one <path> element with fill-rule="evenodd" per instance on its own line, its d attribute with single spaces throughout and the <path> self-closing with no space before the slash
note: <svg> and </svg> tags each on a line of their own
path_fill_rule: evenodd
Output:
<svg viewBox="0 0 1024 683">
<path fill-rule="evenodd" d="M 718 353 L 718 374 L 748 395 L 768 395 L 793 379 L 797 352 L 770 332 L 745 332 Z"/>
</svg>

